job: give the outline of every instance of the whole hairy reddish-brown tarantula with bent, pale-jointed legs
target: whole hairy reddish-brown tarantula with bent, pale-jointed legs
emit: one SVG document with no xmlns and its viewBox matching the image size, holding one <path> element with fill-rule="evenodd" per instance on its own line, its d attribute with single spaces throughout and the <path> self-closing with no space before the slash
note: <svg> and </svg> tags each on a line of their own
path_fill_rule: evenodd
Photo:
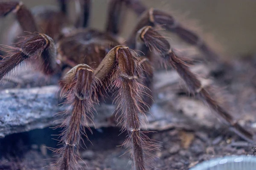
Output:
<svg viewBox="0 0 256 170">
<path fill-rule="evenodd" d="M 198 96 L 206 105 L 218 113 L 224 122 L 242 138 L 254 142 L 252 133 L 241 127 L 233 117 L 209 94 L 207 88 L 189 70 L 189 60 L 179 57 L 175 49 L 155 27 L 175 32 L 191 45 L 196 45 L 207 57 L 217 55 L 192 31 L 168 13 L 147 9 L 140 0 L 111 0 L 105 32 L 87 28 L 90 0 L 76 0 L 76 22 L 74 26 L 67 20 L 67 2 L 59 0 L 60 9 L 41 7 L 33 14 L 21 2 L 0 2 L 0 16 L 10 12 L 16 14 L 22 30 L 17 27 L 13 36 L 15 47 L 6 47 L 6 55 L 0 62 L 0 80 L 23 61 L 40 65 L 46 75 L 62 74 L 61 94 L 66 98 L 70 110 L 60 125 L 63 147 L 55 150 L 58 161 L 52 166 L 58 170 L 76 169 L 79 145 L 82 135 L 87 136 L 85 127 L 93 122 L 93 105 L 97 102 L 116 102 L 117 121 L 122 131 L 127 133 L 125 145 L 133 160 L 134 170 L 146 170 L 151 150 L 157 145 L 145 131 L 140 129 L 141 116 L 152 105 L 151 98 L 154 53 L 162 57 L 161 62 L 180 75 L 189 91 Z M 140 17 L 133 33 L 121 42 L 118 33 L 125 9 L 131 8 Z M 140 51 L 135 53 L 134 50 Z M 88 127 L 89 128 L 89 127 Z"/>
</svg>

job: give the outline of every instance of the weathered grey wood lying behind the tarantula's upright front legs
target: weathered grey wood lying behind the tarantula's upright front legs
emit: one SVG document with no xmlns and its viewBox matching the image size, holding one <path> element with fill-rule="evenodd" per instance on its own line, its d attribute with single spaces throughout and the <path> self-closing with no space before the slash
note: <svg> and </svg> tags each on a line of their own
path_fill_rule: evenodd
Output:
<svg viewBox="0 0 256 170">
<path fill-rule="evenodd" d="M 201 69 L 205 70 L 206 68 L 196 67 L 196 72 L 202 72 Z M 68 106 L 60 104 L 59 87 L 57 85 L 24 88 L 35 83 L 29 83 L 31 77 L 34 78 L 31 81 L 37 79 L 43 82 L 43 78 L 40 78 L 38 73 L 32 75 L 33 72 L 26 70 L 27 72 L 30 76 L 18 72 L 17 76 L 12 77 L 12 79 L 19 79 L 18 84 L 22 88 L 3 89 L 6 86 L 1 87 L 0 137 L 2 138 L 12 133 L 55 127 L 63 118 L 63 115 L 57 116 L 57 113 L 68 109 Z M 204 72 L 207 73 L 207 71 Z M 212 120 L 215 120 L 215 116 L 209 114 L 209 109 L 206 106 L 195 98 L 178 95 L 180 92 L 186 93 L 186 90 L 184 90 L 184 85 L 175 71 L 157 72 L 154 79 L 155 103 L 151 107 L 150 113 L 146 114 L 147 117 L 144 118 L 145 122 L 148 123 L 143 125 L 143 129 L 157 131 L 174 127 L 189 129 L 190 125 L 197 122 L 201 122 L 201 125 L 208 127 L 214 126 L 216 121 Z M 25 85 L 24 82 L 28 85 Z M 9 83 L 15 84 L 13 82 Z M 38 83 L 35 83 L 35 85 L 38 85 Z M 11 87 L 13 86 L 11 85 Z M 102 102 L 100 105 L 96 105 L 95 126 L 89 126 L 95 128 L 116 126 L 108 119 L 112 116 L 115 107 L 115 105 L 107 105 Z M 195 119 L 195 122 L 191 119 Z"/>
</svg>

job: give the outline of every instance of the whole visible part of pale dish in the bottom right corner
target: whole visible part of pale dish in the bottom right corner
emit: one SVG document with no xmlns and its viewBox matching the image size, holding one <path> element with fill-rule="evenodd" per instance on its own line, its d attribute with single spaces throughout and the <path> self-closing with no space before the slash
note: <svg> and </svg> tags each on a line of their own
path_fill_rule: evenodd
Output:
<svg viewBox="0 0 256 170">
<path fill-rule="evenodd" d="M 226 156 L 204 161 L 189 170 L 256 170 L 256 157 Z"/>
</svg>

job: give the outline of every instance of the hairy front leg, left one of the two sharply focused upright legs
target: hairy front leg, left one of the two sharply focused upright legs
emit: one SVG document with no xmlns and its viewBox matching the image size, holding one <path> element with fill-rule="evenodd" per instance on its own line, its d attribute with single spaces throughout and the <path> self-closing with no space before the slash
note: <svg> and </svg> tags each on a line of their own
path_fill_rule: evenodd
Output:
<svg viewBox="0 0 256 170">
<path fill-rule="evenodd" d="M 73 67 L 62 81 L 64 95 L 67 97 L 67 104 L 71 105 L 71 110 L 66 112 L 67 118 L 61 125 L 64 127 L 61 134 L 64 147 L 55 151 L 60 154 L 58 161 L 53 164 L 57 170 L 73 170 L 79 165 L 79 145 L 81 136 L 87 137 L 84 126 L 93 122 L 92 96 L 97 84 L 93 69 L 86 64 Z"/>
</svg>

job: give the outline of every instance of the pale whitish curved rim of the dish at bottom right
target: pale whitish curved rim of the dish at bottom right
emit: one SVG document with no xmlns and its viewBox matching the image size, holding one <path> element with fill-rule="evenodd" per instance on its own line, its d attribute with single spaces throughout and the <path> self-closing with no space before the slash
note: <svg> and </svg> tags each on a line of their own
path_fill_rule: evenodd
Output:
<svg viewBox="0 0 256 170">
<path fill-rule="evenodd" d="M 200 164 L 197 164 L 195 167 L 190 168 L 189 170 L 208 170 L 209 168 L 213 168 L 218 164 L 226 164 L 230 162 L 255 162 L 256 164 L 256 157 L 255 156 L 224 156 L 221 158 L 211 159 L 209 161 L 204 161 Z M 207 169 L 208 168 L 208 169 Z M 209 169 L 210 170 L 210 169 Z"/>
</svg>

